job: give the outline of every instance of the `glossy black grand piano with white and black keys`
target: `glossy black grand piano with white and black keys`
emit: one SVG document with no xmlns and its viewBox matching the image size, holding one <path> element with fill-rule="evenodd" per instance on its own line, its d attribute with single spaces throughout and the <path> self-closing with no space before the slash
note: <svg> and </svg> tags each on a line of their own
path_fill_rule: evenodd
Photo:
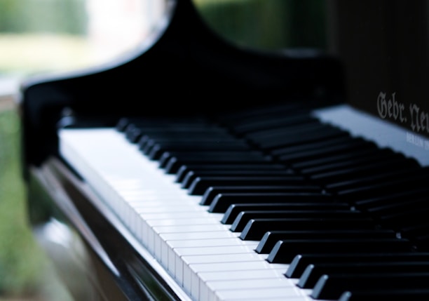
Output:
<svg viewBox="0 0 429 301">
<path fill-rule="evenodd" d="M 374 13 L 331 3 L 341 24 Z M 71 295 L 428 300 L 428 6 L 376 3 L 426 44 L 365 23 L 338 27 L 337 56 L 254 51 L 166 0 L 134 57 L 22 83 L 28 216 Z M 403 73 L 377 72 L 379 46 Z"/>
</svg>

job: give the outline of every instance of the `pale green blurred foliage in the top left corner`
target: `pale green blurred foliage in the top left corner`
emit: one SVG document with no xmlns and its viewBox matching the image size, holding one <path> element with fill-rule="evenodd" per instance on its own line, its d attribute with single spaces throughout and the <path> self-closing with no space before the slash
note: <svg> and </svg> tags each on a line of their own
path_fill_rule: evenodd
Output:
<svg viewBox="0 0 429 301">
<path fill-rule="evenodd" d="M 0 0 L 0 32 L 84 34 L 85 0 Z"/>
</svg>

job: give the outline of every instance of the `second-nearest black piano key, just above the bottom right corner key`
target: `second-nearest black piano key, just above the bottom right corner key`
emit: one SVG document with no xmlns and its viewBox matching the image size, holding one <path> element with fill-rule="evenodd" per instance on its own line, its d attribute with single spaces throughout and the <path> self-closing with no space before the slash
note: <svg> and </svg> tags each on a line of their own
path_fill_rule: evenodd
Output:
<svg viewBox="0 0 429 301">
<path fill-rule="evenodd" d="M 316 300 L 337 300 L 348 290 L 387 290 L 427 288 L 429 272 L 330 274 L 320 277 L 311 297 Z"/>
</svg>

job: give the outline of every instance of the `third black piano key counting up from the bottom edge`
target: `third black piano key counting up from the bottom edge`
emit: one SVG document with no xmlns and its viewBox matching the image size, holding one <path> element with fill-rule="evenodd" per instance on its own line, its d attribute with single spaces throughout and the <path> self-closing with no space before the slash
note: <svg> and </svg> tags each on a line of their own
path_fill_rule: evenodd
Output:
<svg viewBox="0 0 429 301">
<path fill-rule="evenodd" d="M 372 274 L 429 272 L 429 262 L 356 262 L 356 263 L 318 263 L 306 267 L 299 278 L 299 288 L 313 288 L 323 274 Z"/>
</svg>

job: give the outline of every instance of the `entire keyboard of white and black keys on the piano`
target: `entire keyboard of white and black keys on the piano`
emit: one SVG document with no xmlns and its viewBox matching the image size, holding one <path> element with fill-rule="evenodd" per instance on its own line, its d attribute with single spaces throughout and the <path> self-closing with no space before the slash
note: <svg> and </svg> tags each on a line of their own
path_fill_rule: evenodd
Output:
<svg viewBox="0 0 429 301">
<path fill-rule="evenodd" d="M 123 119 L 60 130 L 60 154 L 191 300 L 427 300 L 427 151 L 352 115 Z"/>
</svg>

